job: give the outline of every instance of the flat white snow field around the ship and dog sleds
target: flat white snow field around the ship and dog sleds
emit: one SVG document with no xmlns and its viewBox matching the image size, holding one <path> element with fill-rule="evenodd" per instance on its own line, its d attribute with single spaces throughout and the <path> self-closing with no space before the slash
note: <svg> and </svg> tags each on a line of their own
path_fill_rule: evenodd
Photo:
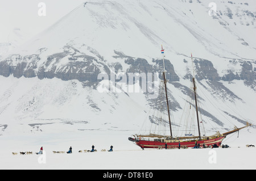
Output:
<svg viewBox="0 0 256 181">
<path fill-rule="evenodd" d="M 0 169 L 85 169 L 85 170 L 172 170 L 172 169 L 256 169 L 254 130 L 228 136 L 222 144 L 230 148 L 214 149 L 145 149 L 141 150 L 127 137 L 133 131 L 87 131 L 63 134 L 23 134 L 1 136 Z M 97 152 L 84 153 L 94 145 Z M 113 145 L 113 152 L 107 150 Z M 40 146 L 45 154 L 36 155 Z M 72 154 L 54 154 L 68 151 Z M 101 151 L 106 149 L 106 151 Z M 82 153 L 79 153 L 82 150 Z M 19 151 L 33 151 L 20 155 Z M 13 155 L 12 152 L 18 152 Z"/>
</svg>

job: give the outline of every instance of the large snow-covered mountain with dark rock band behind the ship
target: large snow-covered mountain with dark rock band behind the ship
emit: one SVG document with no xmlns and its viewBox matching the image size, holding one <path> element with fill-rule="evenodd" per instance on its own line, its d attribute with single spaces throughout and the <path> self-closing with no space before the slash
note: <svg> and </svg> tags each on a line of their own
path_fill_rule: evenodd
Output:
<svg viewBox="0 0 256 181">
<path fill-rule="evenodd" d="M 126 79 L 129 73 L 161 78 L 162 44 L 175 129 L 191 95 L 191 53 L 207 131 L 255 124 L 255 17 L 254 1 L 84 2 L 2 57 L 2 134 L 139 130 L 148 118 L 158 124 L 149 111 L 158 97 L 128 89 Z M 100 91 L 105 84 L 115 91 Z"/>
</svg>

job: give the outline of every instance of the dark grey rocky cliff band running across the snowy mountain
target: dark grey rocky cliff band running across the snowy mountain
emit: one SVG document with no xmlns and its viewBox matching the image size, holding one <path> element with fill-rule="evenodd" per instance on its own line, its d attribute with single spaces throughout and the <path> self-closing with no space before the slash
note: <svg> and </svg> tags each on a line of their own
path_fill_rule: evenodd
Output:
<svg viewBox="0 0 256 181">
<path fill-rule="evenodd" d="M 77 79 L 79 81 L 98 82 L 98 74 L 108 73 L 110 77 L 110 69 L 114 69 L 117 73 L 118 70 L 125 70 L 127 73 L 159 73 L 159 78 L 162 79 L 163 60 L 152 59 L 146 60 L 145 58 L 134 58 L 125 56 L 123 62 L 129 67 L 127 70 L 117 62 L 114 66 L 108 65 L 107 60 L 101 60 L 96 57 L 88 56 L 86 54 L 76 53 L 56 53 L 47 56 L 43 65 L 38 66 L 38 61 L 41 61 L 39 54 L 32 54 L 28 56 L 20 56 L 19 54 L 13 54 L 10 57 L 5 58 L 0 62 L 0 75 L 9 77 L 13 75 L 16 78 L 22 76 L 31 78 L 38 77 L 43 78 L 60 78 L 63 81 Z M 181 60 L 177 60 L 181 61 Z M 64 64 L 61 64 L 64 62 Z M 196 72 L 196 79 L 198 81 L 202 79 L 209 79 L 210 81 L 233 81 L 233 80 L 245 80 L 254 81 L 256 79 L 256 71 L 253 68 L 253 64 L 256 61 L 246 60 L 229 60 L 230 64 L 238 66 L 239 69 L 234 71 L 232 69 L 226 70 L 226 74 L 219 75 L 212 61 L 205 60 L 203 58 L 195 58 L 194 66 Z M 60 65 L 61 64 L 61 65 Z M 185 61 L 187 64 L 187 61 Z M 126 67 L 127 67 L 126 66 Z M 179 81 L 180 77 L 175 73 L 174 65 L 170 60 L 165 60 L 166 76 L 168 81 Z M 186 74 L 182 78 L 192 78 L 192 74 Z"/>
</svg>

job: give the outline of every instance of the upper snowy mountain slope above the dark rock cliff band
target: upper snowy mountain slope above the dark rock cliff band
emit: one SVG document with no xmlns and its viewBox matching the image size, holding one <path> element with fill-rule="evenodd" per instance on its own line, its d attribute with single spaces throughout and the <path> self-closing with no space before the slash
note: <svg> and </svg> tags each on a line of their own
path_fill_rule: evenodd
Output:
<svg viewBox="0 0 256 181">
<path fill-rule="evenodd" d="M 19 53 L 24 56 L 47 48 L 51 55 L 71 45 L 88 55 L 86 48 L 93 48 L 111 61 L 114 50 L 132 57 L 157 58 L 159 45 L 164 44 L 170 57 L 193 52 L 216 64 L 222 61 L 220 57 L 253 59 L 254 3 L 219 1 L 216 16 L 209 16 L 205 1 L 87 2 L 22 46 Z"/>
</svg>

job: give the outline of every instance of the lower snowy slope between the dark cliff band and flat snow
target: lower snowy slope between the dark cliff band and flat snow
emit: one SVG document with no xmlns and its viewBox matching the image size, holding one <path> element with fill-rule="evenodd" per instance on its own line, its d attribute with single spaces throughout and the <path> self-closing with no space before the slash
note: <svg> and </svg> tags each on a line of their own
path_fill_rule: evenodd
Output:
<svg viewBox="0 0 256 181">
<path fill-rule="evenodd" d="M 146 99 L 143 93 L 98 92 L 92 87 L 84 86 L 79 81 L 61 81 L 60 79 L 14 78 L 1 77 L 1 134 L 15 133 L 53 133 L 65 131 L 88 130 L 134 130 L 146 131 L 142 127 L 148 122 L 148 116 L 154 113 L 152 100 Z M 204 82 L 205 85 L 208 81 Z M 189 83 L 189 81 L 187 81 Z M 230 86 L 241 86 L 237 81 Z M 243 85 L 242 85 L 243 86 Z M 171 95 L 175 98 L 171 102 L 180 104 L 180 108 L 172 111 L 175 125 L 183 127 L 180 118 L 184 115 L 184 105 L 188 95 L 180 87 L 170 84 Z M 234 125 L 242 127 L 246 121 L 254 124 L 255 97 L 222 98 L 213 89 L 198 88 L 203 93 L 200 100 L 204 127 L 209 134 L 216 130 L 226 132 Z M 246 92 L 246 94 L 245 94 Z M 243 89 L 236 95 L 250 95 L 250 88 Z M 253 101 L 252 101 L 253 100 Z M 256 100 L 255 100 L 256 101 Z M 153 103 L 153 104 L 152 104 Z M 155 107 L 155 106 L 153 106 Z M 174 107 L 172 105 L 172 107 Z M 167 115 L 166 118 L 167 120 Z M 147 123 L 148 122 L 148 123 Z M 146 130 L 144 130 L 146 129 Z M 168 125 L 166 125 L 168 134 Z M 177 132 L 180 136 L 184 132 Z M 196 132 L 195 132 L 196 134 Z"/>
</svg>

